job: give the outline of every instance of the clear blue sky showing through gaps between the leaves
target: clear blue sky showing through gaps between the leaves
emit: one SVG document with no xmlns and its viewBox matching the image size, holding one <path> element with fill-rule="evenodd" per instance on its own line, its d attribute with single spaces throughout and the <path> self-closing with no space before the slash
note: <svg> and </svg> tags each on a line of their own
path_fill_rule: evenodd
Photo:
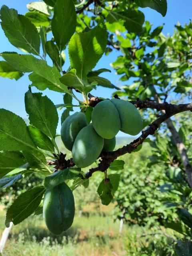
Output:
<svg viewBox="0 0 192 256">
<path fill-rule="evenodd" d="M 182 3 L 181 3 L 182 2 Z M 18 10 L 19 14 L 25 14 L 28 10 L 26 8 L 26 4 L 29 3 L 27 0 L 1 0 L 1 5 L 6 4 L 9 8 L 15 8 Z M 192 0 L 168 0 L 168 12 L 165 17 L 162 17 L 158 12 L 151 10 L 150 8 L 143 8 L 142 12 L 145 14 L 145 19 L 149 20 L 150 23 L 154 24 L 154 28 L 156 26 L 160 26 L 165 24 L 163 33 L 164 34 L 172 34 L 174 25 L 177 22 L 184 25 L 189 22 L 190 18 L 192 18 Z M 0 52 L 4 51 L 16 51 L 20 52 L 17 48 L 12 46 L 6 36 L 4 35 L 3 30 L 0 28 Z M 118 51 L 114 51 L 112 54 L 108 56 L 103 56 L 101 60 L 98 62 L 97 68 L 108 68 L 112 72 L 104 73 L 103 76 L 108 78 L 113 84 L 116 86 L 121 85 L 121 82 L 118 80 L 119 77 L 115 74 L 115 71 L 110 67 L 110 63 L 114 62 L 116 58 L 120 55 Z M 51 62 L 48 64 L 51 65 Z M 69 61 L 67 60 L 64 66 L 64 70 L 66 70 L 69 66 Z M 26 74 L 18 81 L 10 80 L 8 78 L 0 78 L 0 108 L 5 108 L 10 110 L 22 118 L 27 118 L 27 114 L 24 108 L 24 94 L 28 90 L 28 85 L 30 81 L 28 79 L 28 75 Z M 32 91 L 36 92 L 37 90 L 32 87 Z M 96 96 L 110 98 L 113 90 L 98 87 L 92 93 Z M 45 90 L 43 94 L 46 94 L 54 104 L 62 103 L 62 94 L 58 92 L 52 92 L 50 90 Z M 61 112 L 61 111 L 60 111 Z M 59 114 L 60 115 L 60 114 Z M 58 132 L 60 130 L 60 125 L 58 126 Z M 120 136 L 125 134 L 119 134 Z"/>
</svg>

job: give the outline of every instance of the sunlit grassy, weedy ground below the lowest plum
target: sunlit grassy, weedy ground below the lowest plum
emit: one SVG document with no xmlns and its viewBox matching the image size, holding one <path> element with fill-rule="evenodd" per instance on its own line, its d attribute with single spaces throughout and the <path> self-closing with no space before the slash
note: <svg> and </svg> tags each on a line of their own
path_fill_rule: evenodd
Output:
<svg viewBox="0 0 192 256">
<path fill-rule="evenodd" d="M 0 236 L 5 212 L 0 207 Z M 53 220 L 54 221 L 54 220 Z M 171 240 L 144 236 L 151 230 L 124 225 L 108 215 L 75 216 L 74 224 L 62 236 L 52 235 L 42 216 L 30 216 L 13 227 L 3 255 L 6 256 L 172 256 Z"/>
</svg>

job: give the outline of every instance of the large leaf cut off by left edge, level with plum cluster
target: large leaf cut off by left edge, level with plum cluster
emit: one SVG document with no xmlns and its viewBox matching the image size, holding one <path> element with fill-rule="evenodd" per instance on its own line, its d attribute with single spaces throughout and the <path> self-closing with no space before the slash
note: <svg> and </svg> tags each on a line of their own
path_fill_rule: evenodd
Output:
<svg viewBox="0 0 192 256">
<path fill-rule="evenodd" d="M 34 145 L 26 123 L 20 117 L 5 110 L 0 109 L 0 150 L 29 150 L 29 148 L 36 148 Z"/>
</svg>

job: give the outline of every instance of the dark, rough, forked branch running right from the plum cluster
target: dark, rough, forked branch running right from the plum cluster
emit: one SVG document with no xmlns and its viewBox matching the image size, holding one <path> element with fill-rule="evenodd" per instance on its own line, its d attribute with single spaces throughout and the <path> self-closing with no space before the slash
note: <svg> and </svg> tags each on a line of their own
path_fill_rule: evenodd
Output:
<svg viewBox="0 0 192 256">
<path fill-rule="evenodd" d="M 89 97 L 92 101 L 94 101 L 93 98 L 96 98 L 96 101 L 98 101 L 97 97 L 92 96 L 89 94 Z M 159 118 L 157 118 L 154 122 L 149 124 L 148 128 L 144 131 L 142 131 L 141 136 L 139 136 L 136 140 L 131 142 L 130 144 L 123 146 L 122 148 L 119 148 L 118 150 L 112 151 L 112 152 L 101 152 L 100 154 L 100 163 L 96 168 L 91 168 L 86 173 L 86 178 L 90 178 L 92 174 L 96 171 L 104 172 L 106 171 L 110 164 L 119 156 L 122 156 L 127 153 L 131 153 L 133 150 L 135 150 L 140 144 L 144 142 L 144 140 L 149 136 L 153 135 L 154 132 L 159 128 L 160 124 L 168 120 L 171 116 L 174 116 L 175 114 L 184 112 L 184 111 L 191 111 L 192 112 L 192 103 L 188 104 L 168 104 L 165 103 L 157 103 L 152 101 L 141 101 L 137 99 L 137 101 L 130 101 L 130 103 L 134 104 L 137 108 L 153 108 L 158 111 L 164 110 L 164 114 L 162 114 Z M 59 160 L 59 162 L 56 162 L 56 169 L 60 169 L 60 166 L 62 169 L 72 167 L 74 166 L 74 162 L 72 158 L 70 160 L 65 160 L 65 156 L 62 156 L 62 159 Z M 64 161 L 64 162 L 63 162 Z"/>
</svg>

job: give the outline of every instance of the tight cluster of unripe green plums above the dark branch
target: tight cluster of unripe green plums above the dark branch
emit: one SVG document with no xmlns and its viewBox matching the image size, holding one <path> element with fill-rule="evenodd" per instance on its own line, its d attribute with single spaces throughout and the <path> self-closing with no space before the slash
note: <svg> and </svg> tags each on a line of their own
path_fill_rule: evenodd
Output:
<svg viewBox="0 0 192 256">
<path fill-rule="evenodd" d="M 102 150 L 112 151 L 119 131 L 137 135 L 142 130 L 142 118 L 137 108 L 128 101 L 113 98 L 99 102 L 92 112 L 92 123 L 76 112 L 68 116 L 61 127 L 61 139 L 72 151 L 76 166 L 90 166 Z"/>
</svg>

